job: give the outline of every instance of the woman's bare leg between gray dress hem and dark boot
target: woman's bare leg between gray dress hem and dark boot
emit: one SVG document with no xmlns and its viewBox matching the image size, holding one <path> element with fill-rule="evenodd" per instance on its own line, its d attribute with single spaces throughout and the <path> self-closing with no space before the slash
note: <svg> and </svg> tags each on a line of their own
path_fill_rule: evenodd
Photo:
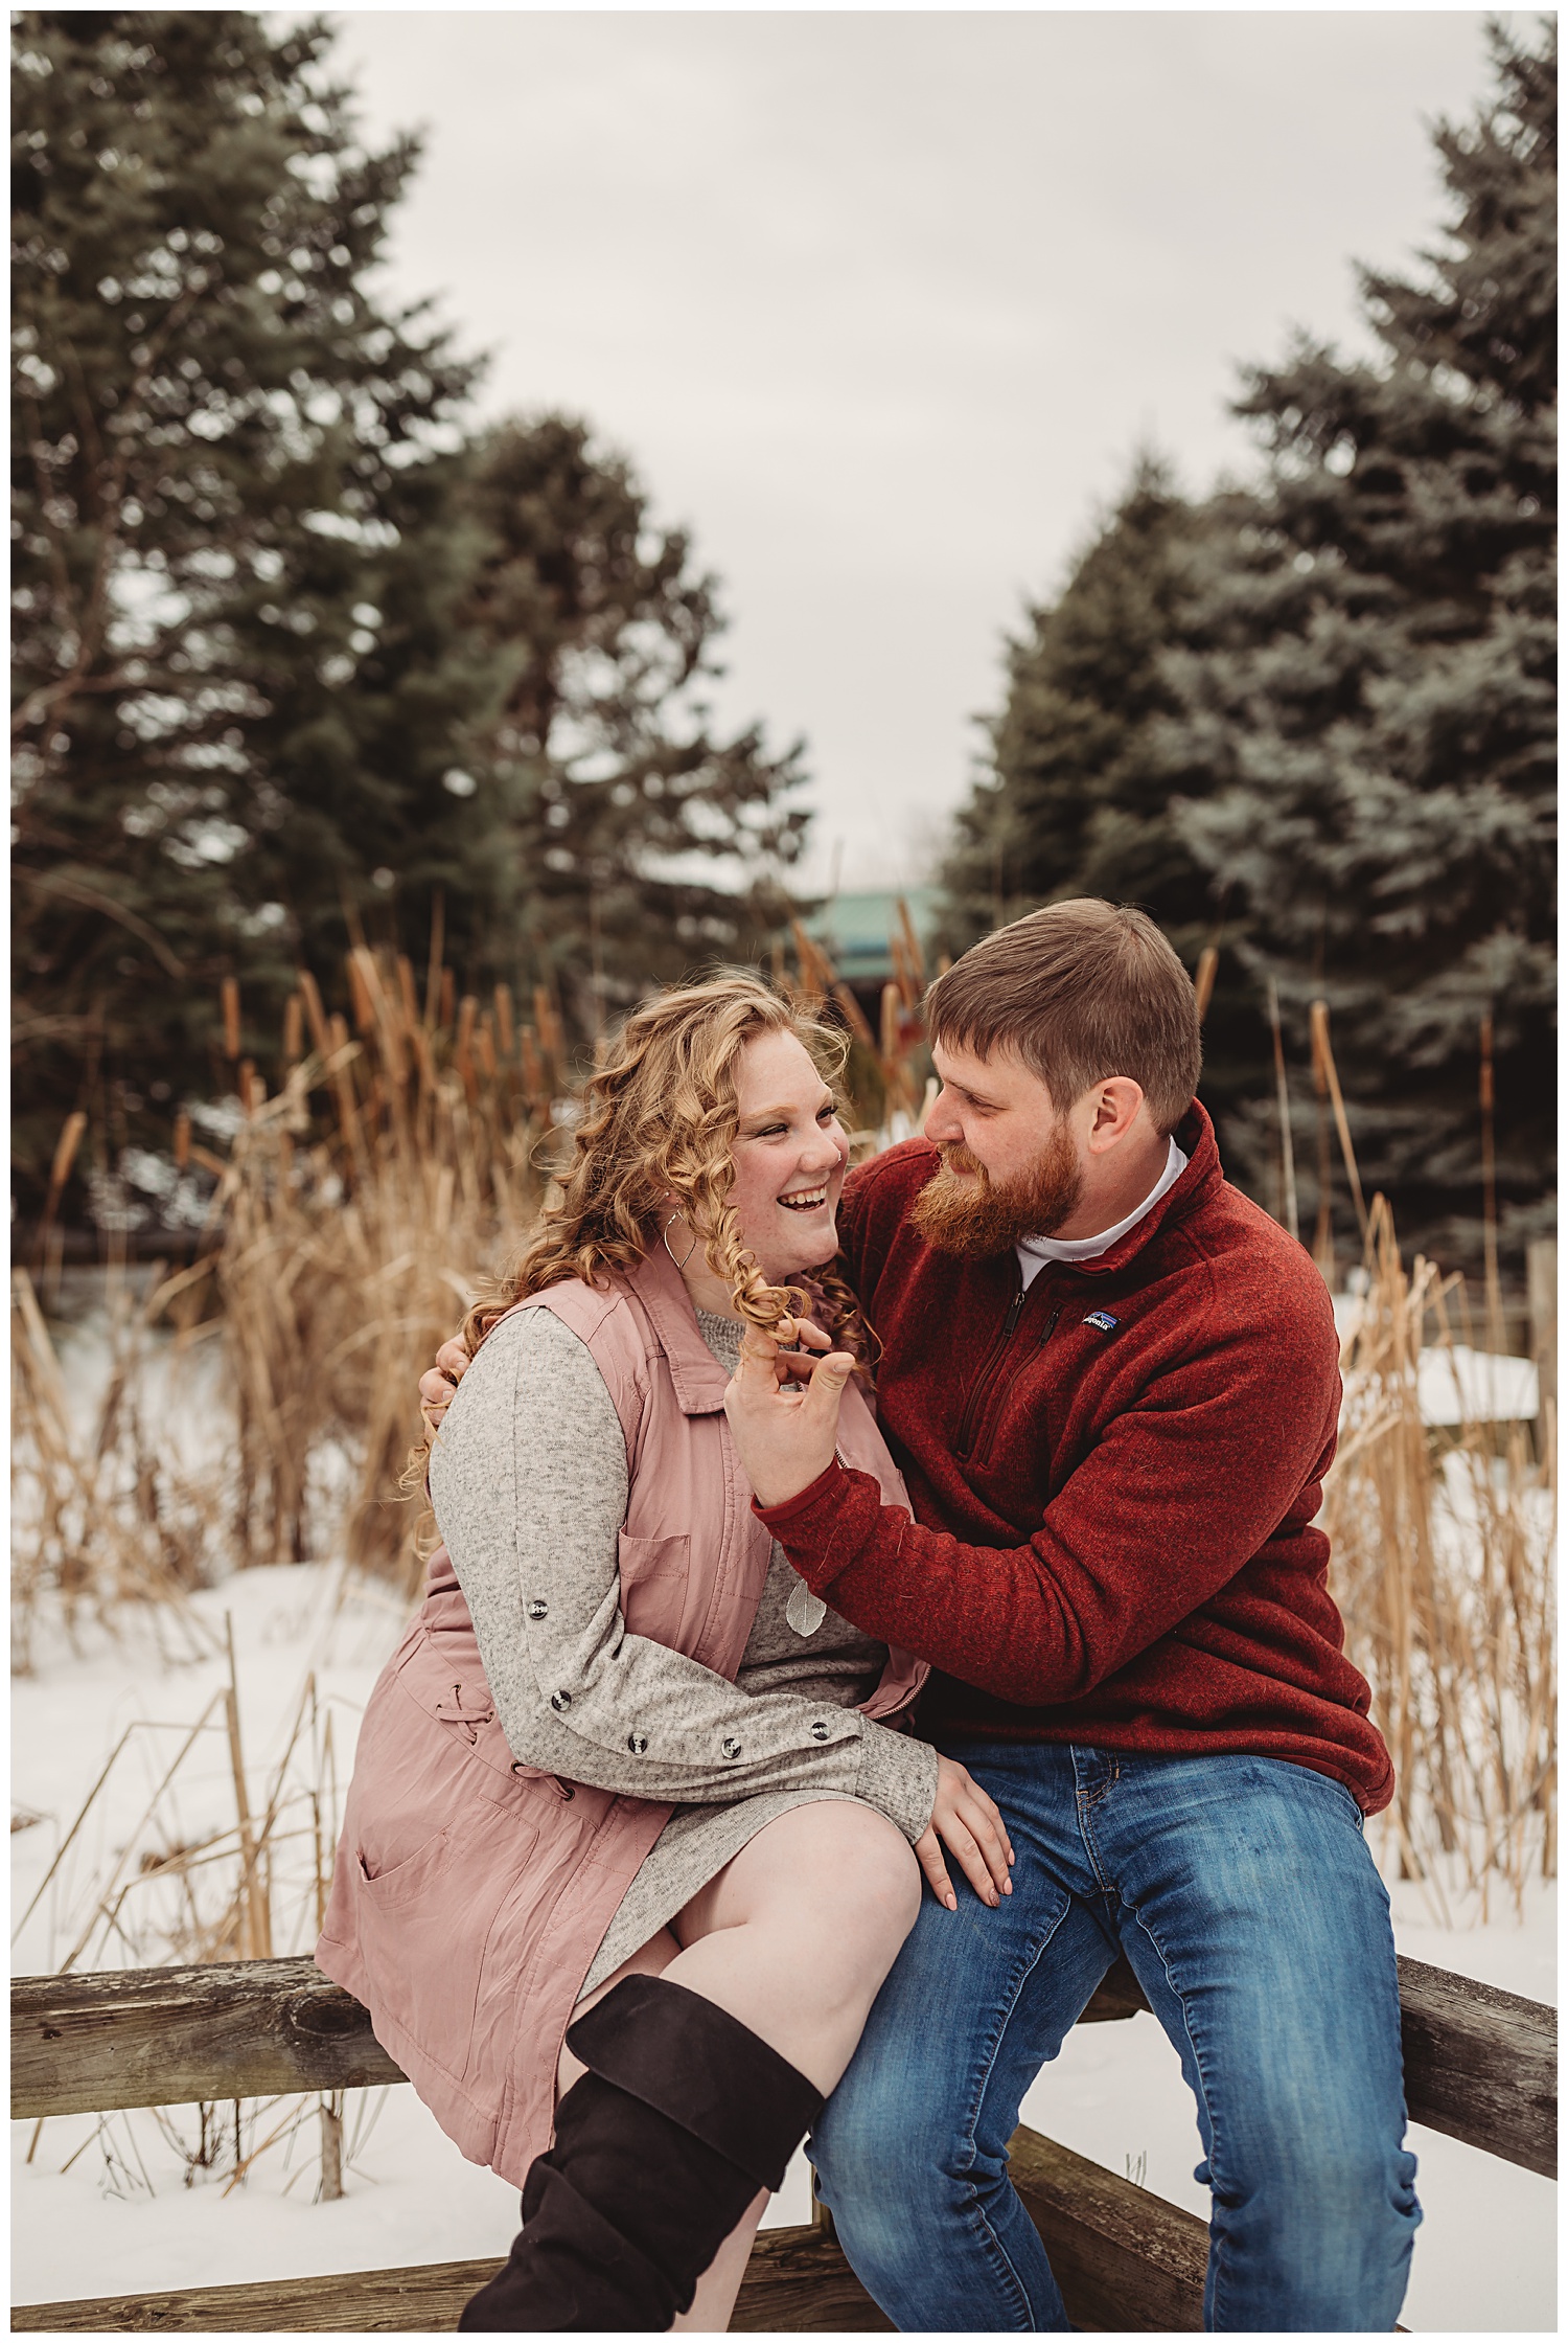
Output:
<svg viewBox="0 0 1568 2343">
<path fill-rule="evenodd" d="M 920 1867 L 887 1816 L 850 1799 L 791 1806 L 693 1895 L 672 1928 L 660 1928 L 580 2001 L 576 2015 L 623 1977 L 662 1975 L 730 2010 L 826 2095 L 854 2057 L 917 1910 Z M 580 2074 L 580 2062 L 562 2048 L 557 2097 Z M 674 2334 L 728 2329 L 765 2205 L 768 2191 L 758 2191 L 702 2273 Z"/>
</svg>

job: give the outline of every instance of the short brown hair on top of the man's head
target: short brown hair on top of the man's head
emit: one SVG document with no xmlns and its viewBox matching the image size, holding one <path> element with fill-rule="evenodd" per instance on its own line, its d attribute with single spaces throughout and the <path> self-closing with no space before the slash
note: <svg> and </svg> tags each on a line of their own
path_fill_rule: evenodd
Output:
<svg viewBox="0 0 1568 2343">
<path fill-rule="evenodd" d="M 1077 895 L 997 928 L 924 996 L 927 1036 L 1011 1050 L 1058 1113 L 1114 1073 L 1140 1085 L 1161 1136 L 1191 1106 L 1203 1064 L 1198 996 L 1147 911 Z"/>
</svg>

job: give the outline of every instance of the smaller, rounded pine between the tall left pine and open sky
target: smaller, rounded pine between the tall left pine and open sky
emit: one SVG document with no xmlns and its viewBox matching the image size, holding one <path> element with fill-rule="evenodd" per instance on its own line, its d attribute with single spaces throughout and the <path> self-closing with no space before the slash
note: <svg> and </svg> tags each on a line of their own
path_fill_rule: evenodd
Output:
<svg viewBox="0 0 1568 2343">
<path fill-rule="evenodd" d="M 494 431 L 470 511 L 487 551 L 468 614 L 510 658 L 489 743 L 510 897 L 487 972 L 559 984 L 594 1033 L 651 982 L 779 923 L 807 820 L 789 806 L 800 750 L 714 726 L 716 583 L 583 422 Z"/>
</svg>

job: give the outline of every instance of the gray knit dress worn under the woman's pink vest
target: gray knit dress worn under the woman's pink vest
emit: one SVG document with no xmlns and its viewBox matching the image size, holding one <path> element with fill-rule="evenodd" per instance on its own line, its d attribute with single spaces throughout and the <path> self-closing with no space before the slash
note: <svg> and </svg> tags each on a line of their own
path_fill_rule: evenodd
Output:
<svg viewBox="0 0 1568 2343">
<path fill-rule="evenodd" d="M 740 1321 L 700 1310 L 697 1326 L 735 1368 Z M 527 1462 L 517 1504 L 498 1500 L 494 1460 L 506 1446 Z M 805 1729 L 824 1703 L 854 1710 L 887 1647 L 810 1598 L 777 1544 L 733 1685 L 625 1633 L 625 1436 L 587 1347 L 555 1312 L 520 1310 L 480 1345 L 431 1453 L 431 1500 L 513 1757 L 676 1806 L 604 1933 L 585 1994 L 789 1806 L 859 1797 L 906 1839 L 924 1832 L 936 1750 L 861 1715 L 845 1715 L 826 1746 Z M 529 1617 L 524 1584 L 550 1586 L 543 1619 Z M 632 1710 L 660 1720 L 658 1757 L 627 1753 Z M 723 1760 L 737 1724 L 749 1755 Z"/>
</svg>

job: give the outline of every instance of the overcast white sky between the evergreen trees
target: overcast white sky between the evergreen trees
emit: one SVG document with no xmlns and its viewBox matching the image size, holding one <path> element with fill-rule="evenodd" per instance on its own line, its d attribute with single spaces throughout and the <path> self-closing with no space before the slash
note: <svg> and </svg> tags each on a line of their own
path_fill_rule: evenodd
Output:
<svg viewBox="0 0 1568 2343">
<path fill-rule="evenodd" d="M 365 131 L 426 134 L 396 288 L 693 530 L 817 886 L 927 876 L 1025 600 L 1140 443 L 1250 462 L 1236 363 L 1360 340 L 1353 258 L 1430 241 L 1425 124 L 1488 87 L 1470 9 L 337 21 Z"/>
</svg>

